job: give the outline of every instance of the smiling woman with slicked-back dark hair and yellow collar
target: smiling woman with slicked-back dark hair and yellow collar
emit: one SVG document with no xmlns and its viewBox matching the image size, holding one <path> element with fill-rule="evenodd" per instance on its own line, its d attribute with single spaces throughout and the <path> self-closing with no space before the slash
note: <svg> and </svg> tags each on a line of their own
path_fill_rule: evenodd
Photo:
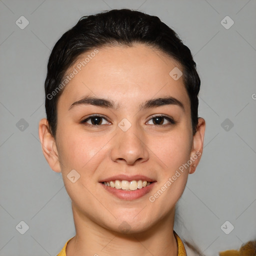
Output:
<svg viewBox="0 0 256 256">
<path fill-rule="evenodd" d="M 82 17 L 56 42 L 45 80 L 43 154 L 72 201 L 58 255 L 186 255 L 175 204 L 201 157 L 200 79 L 158 17 Z"/>
</svg>

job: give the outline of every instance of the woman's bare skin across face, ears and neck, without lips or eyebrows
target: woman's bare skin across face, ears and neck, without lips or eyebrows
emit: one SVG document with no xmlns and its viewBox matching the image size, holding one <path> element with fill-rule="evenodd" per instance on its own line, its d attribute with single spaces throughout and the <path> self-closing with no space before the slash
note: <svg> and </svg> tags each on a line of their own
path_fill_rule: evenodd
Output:
<svg viewBox="0 0 256 256">
<path fill-rule="evenodd" d="M 67 256 L 177 255 L 175 204 L 200 155 L 158 198 L 153 202 L 148 198 L 179 166 L 202 152 L 205 121 L 198 118 L 193 135 L 190 101 L 182 76 L 174 80 L 169 75 L 175 66 L 182 68 L 171 57 L 143 44 L 98 50 L 59 97 L 56 138 L 50 134 L 45 118 L 39 122 L 43 154 L 51 169 L 62 173 L 72 201 L 76 235 L 67 244 Z M 80 104 L 68 110 L 87 94 L 111 99 L 119 108 Z M 175 97 L 184 109 L 171 104 L 138 111 L 142 102 L 164 96 Z M 94 119 L 81 123 L 91 114 L 104 115 L 101 126 L 86 125 Z M 171 116 L 176 123 L 164 118 L 164 123 L 157 125 L 152 119 L 155 114 Z M 118 127 L 123 118 L 131 123 L 127 131 Z M 80 174 L 74 183 L 67 178 L 72 169 Z M 99 183 L 116 174 L 142 174 L 157 182 L 148 194 L 127 201 L 110 194 Z M 129 225 L 128 232 L 120 228 L 123 221 Z"/>
</svg>

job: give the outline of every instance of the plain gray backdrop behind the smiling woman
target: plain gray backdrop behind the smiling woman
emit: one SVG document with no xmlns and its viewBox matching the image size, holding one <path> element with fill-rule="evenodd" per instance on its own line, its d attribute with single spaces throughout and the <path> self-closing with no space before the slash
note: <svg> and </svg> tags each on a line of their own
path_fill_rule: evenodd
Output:
<svg viewBox="0 0 256 256">
<path fill-rule="evenodd" d="M 0 255 L 56 255 L 75 234 L 62 176 L 38 138 L 47 59 L 81 16 L 122 7 L 174 28 L 201 77 L 204 151 L 178 202 L 176 232 L 206 255 L 256 238 L 255 0 L 0 0 Z M 24 29 L 15 24 L 21 15 Z M 24 234 L 15 228 L 21 220 Z M 229 234 L 220 228 L 226 220 Z"/>
</svg>

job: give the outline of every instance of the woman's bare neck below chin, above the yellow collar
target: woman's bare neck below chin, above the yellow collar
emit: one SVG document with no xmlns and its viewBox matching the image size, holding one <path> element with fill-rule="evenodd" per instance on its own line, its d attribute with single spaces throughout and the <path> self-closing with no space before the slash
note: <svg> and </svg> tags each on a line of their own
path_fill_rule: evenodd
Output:
<svg viewBox="0 0 256 256">
<path fill-rule="evenodd" d="M 76 235 L 67 243 L 67 256 L 176 256 L 174 209 L 167 217 L 142 231 L 119 233 L 82 215 L 72 204 Z"/>
</svg>

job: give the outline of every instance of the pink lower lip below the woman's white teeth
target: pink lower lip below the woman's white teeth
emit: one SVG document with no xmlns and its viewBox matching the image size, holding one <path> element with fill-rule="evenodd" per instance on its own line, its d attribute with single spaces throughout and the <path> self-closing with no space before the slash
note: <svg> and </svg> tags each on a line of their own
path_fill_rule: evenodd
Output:
<svg viewBox="0 0 256 256">
<path fill-rule="evenodd" d="M 101 182 L 100 182 L 101 183 Z M 115 195 L 119 199 L 123 200 L 134 200 L 139 197 L 142 197 L 146 193 L 148 193 L 154 186 L 154 182 L 150 183 L 148 186 L 144 186 L 142 188 L 138 188 L 136 190 L 124 190 L 124 189 L 117 189 L 111 186 L 106 186 L 105 184 L 101 183 L 101 185 L 111 194 Z"/>
</svg>

